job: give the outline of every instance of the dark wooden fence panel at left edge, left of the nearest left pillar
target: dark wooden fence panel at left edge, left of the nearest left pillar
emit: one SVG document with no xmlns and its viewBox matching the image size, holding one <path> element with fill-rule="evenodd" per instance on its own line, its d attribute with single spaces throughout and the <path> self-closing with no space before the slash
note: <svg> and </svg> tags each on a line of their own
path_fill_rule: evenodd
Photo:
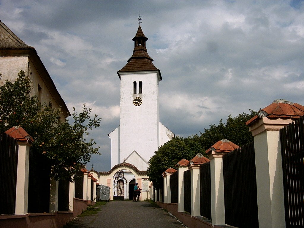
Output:
<svg viewBox="0 0 304 228">
<path fill-rule="evenodd" d="M 17 164 L 17 140 L 0 133 L 0 214 L 15 213 Z"/>
</svg>

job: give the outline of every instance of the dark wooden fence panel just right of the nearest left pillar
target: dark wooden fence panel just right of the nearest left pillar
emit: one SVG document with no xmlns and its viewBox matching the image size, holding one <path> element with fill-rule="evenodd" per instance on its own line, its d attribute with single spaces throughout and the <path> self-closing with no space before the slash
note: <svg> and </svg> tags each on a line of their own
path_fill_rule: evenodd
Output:
<svg viewBox="0 0 304 228">
<path fill-rule="evenodd" d="M 30 147 L 28 213 L 50 211 L 50 172 L 46 157 Z"/>
</svg>

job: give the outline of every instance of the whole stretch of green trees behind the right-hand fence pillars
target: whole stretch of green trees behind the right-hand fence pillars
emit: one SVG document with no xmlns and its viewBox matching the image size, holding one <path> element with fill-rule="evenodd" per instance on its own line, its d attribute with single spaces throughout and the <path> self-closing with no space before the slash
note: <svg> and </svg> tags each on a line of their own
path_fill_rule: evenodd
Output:
<svg viewBox="0 0 304 228">
<path fill-rule="evenodd" d="M 246 121 L 257 114 L 257 111 L 250 110 L 250 114 L 245 112 L 236 117 L 227 117 L 226 124 L 219 120 L 219 124 L 210 125 L 200 136 L 192 135 L 187 138 L 176 137 L 165 143 L 149 160 L 147 175 L 154 187 L 163 187 L 163 178 L 161 174 L 169 167 L 175 168 L 174 165 L 181 159 L 191 160 L 196 154 L 201 153 L 207 157 L 205 151 L 219 140 L 227 139 L 241 146 L 253 140 Z"/>
</svg>

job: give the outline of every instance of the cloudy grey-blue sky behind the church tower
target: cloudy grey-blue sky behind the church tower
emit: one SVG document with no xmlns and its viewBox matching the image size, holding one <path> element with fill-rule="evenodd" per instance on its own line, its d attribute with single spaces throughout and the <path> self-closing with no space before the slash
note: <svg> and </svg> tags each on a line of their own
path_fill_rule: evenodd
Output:
<svg viewBox="0 0 304 228">
<path fill-rule="evenodd" d="M 119 126 L 117 71 L 142 16 L 161 70 L 160 119 L 178 136 L 275 99 L 304 105 L 303 1 L 0 1 L 0 20 L 35 47 L 72 111 L 102 118 L 87 168 L 110 170 L 108 134 Z"/>
</svg>

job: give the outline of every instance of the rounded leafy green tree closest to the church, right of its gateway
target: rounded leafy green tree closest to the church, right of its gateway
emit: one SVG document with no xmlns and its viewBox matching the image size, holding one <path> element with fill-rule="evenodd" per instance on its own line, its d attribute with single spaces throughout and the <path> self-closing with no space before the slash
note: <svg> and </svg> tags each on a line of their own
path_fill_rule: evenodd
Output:
<svg viewBox="0 0 304 228">
<path fill-rule="evenodd" d="M 205 151 L 199 143 L 199 136 L 192 135 L 187 138 L 175 137 L 161 146 L 155 155 L 149 160 L 150 166 L 147 175 L 153 182 L 155 188 L 163 187 L 161 174 L 169 167 L 176 168 L 175 165 L 183 158 L 191 160 L 196 154 L 201 153 L 206 156 Z"/>
</svg>

